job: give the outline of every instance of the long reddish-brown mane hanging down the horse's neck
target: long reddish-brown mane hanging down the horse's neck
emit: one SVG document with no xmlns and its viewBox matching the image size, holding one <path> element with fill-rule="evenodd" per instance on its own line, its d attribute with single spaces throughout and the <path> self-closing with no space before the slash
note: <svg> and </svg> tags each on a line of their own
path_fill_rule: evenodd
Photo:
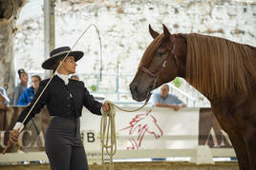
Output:
<svg viewBox="0 0 256 170">
<path fill-rule="evenodd" d="M 185 80 L 210 98 L 225 98 L 256 85 L 256 47 L 202 34 L 185 34 Z"/>
</svg>

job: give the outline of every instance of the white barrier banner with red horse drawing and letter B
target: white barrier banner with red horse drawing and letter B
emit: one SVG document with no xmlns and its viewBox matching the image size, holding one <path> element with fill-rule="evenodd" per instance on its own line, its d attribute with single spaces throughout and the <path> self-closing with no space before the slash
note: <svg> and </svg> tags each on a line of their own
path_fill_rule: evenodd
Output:
<svg viewBox="0 0 256 170">
<path fill-rule="evenodd" d="M 137 112 L 116 111 L 118 150 L 194 148 L 199 143 L 199 108 L 173 111 L 145 107 Z M 86 150 L 100 148 L 100 119 L 84 110 L 81 131 Z"/>
</svg>

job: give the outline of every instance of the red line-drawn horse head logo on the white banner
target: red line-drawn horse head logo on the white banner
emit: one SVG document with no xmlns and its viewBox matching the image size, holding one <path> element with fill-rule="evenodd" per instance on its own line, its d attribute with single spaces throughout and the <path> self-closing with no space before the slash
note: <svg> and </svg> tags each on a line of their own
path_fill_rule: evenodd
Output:
<svg viewBox="0 0 256 170">
<path fill-rule="evenodd" d="M 136 117 L 133 118 L 127 127 L 120 130 L 126 129 L 129 129 L 129 135 L 138 136 L 136 139 L 133 137 L 129 139 L 132 146 L 128 146 L 128 150 L 139 149 L 145 133 L 154 135 L 155 139 L 159 139 L 160 136 L 162 136 L 162 130 L 157 123 L 157 119 L 151 114 L 151 110 L 149 110 L 146 114 L 136 115 Z"/>
</svg>

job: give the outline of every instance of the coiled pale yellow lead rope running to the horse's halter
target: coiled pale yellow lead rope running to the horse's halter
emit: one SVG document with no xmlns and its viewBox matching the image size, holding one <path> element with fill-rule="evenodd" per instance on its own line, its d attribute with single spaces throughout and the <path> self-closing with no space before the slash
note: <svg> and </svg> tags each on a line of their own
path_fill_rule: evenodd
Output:
<svg viewBox="0 0 256 170">
<path fill-rule="evenodd" d="M 136 112 L 139 109 L 141 109 L 143 106 L 145 106 L 148 103 L 148 100 L 149 98 L 146 100 L 145 104 L 143 104 L 142 106 L 134 110 L 127 110 L 127 109 L 120 108 L 119 106 L 117 106 L 116 104 L 113 104 L 110 101 L 105 102 L 105 104 L 109 104 L 110 111 L 105 112 L 103 109 L 101 110 L 101 114 L 102 114 L 101 122 L 100 122 L 101 163 L 104 170 L 106 169 L 106 166 L 104 163 L 104 150 L 109 156 L 109 160 L 110 160 L 109 169 L 114 170 L 113 156 L 117 152 L 115 107 L 125 112 Z"/>
</svg>

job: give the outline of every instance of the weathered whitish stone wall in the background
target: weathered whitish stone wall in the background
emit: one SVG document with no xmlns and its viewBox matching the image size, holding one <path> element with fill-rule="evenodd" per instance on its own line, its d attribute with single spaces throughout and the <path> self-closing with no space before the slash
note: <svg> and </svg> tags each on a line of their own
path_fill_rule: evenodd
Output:
<svg viewBox="0 0 256 170">
<path fill-rule="evenodd" d="M 162 32 L 165 24 L 172 33 L 198 32 L 256 46 L 256 4 L 234 0 L 108 0 L 57 1 L 55 7 L 55 47 L 72 47 L 82 31 L 96 24 L 103 45 L 103 73 L 134 75 L 143 51 L 152 41 L 151 24 Z M 247 3 L 245 3 L 247 2 Z M 32 7 L 30 8 L 32 9 Z M 26 10 L 26 7 L 24 8 Z M 35 9 L 37 10 L 37 9 Z M 39 9 L 42 10 L 42 9 Z M 37 11 L 38 12 L 38 11 Z M 22 19 L 22 17 L 21 17 Z M 43 15 L 19 22 L 14 44 L 15 69 L 41 71 L 43 52 Z M 75 49 L 85 52 L 77 72 L 89 88 L 96 85 L 100 68 L 99 42 L 94 28 L 88 30 Z M 132 80 L 120 77 L 120 91 L 128 91 Z M 100 91 L 115 91 L 116 77 L 105 76 Z M 186 85 L 181 86 L 186 88 Z M 188 92 L 190 93 L 190 89 Z M 191 95 L 194 96 L 192 93 Z M 109 99 L 112 96 L 107 97 Z M 125 99 L 124 95 L 122 99 Z"/>
</svg>

